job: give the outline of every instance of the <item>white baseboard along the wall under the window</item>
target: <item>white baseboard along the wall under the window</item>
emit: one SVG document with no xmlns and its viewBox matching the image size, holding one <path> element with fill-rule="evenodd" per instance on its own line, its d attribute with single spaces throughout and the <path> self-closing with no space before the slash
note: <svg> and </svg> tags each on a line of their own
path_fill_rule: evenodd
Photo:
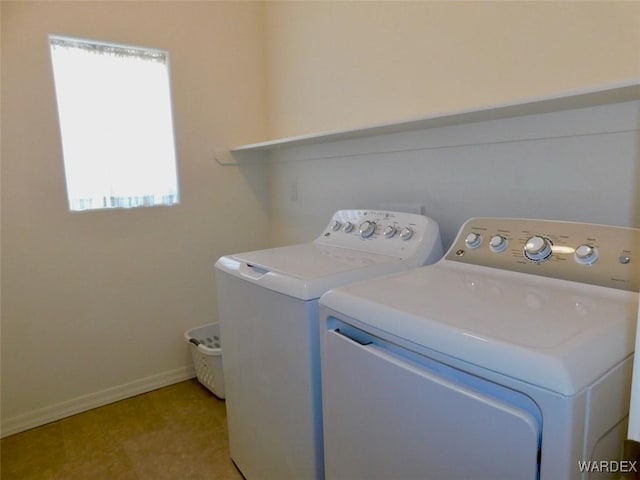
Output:
<svg viewBox="0 0 640 480">
<path fill-rule="evenodd" d="M 31 412 L 22 413 L 2 420 L 0 437 L 6 437 L 14 433 L 29 430 L 30 428 L 39 427 L 40 425 L 75 415 L 76 413 L 86 412 L 92 408 L 101 407 L 108 403 L 140 395 L 141 393 L 147 393 L 151 390 L 182 382 L 195 376 L 196 373 L 193 365 L 185 366 L 116 387 L 107 388 L 99 392 L 89 393 L 55 405 L 38 408 Z"/>
</svg>

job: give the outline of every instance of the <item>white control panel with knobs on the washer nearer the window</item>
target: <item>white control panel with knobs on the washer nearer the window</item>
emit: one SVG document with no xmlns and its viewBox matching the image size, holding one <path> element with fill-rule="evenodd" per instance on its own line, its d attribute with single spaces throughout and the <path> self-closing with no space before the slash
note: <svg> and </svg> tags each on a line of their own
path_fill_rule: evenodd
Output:
<svg viewBox="0 0 640 480">
<path fill-rule="evenodd" d="M 438 224 L 415 213 L 340 210 L 316 242 L 400 258 L 424 251 L 442 256 Z"/>
</svg>

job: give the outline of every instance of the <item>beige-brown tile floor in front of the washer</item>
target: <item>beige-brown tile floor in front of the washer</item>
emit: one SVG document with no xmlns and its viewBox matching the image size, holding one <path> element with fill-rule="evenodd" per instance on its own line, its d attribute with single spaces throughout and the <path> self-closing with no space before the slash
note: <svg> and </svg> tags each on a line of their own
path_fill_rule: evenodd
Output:
<svg viewBox="0 0 640 480">
<path fill-rule="evenodd" d="M 225 404 L 181 382 L 0 441 L 2 480 L 242 480 Z"/>
</svg>

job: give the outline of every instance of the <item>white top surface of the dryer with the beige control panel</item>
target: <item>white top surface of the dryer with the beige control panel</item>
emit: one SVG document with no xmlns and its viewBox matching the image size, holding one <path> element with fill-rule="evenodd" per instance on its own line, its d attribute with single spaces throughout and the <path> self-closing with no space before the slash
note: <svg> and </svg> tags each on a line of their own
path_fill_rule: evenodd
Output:
<svg viewBox="0 0 640 480">
<path fill-rule="evenodd" d="M 443 260 L 332 290 L 320 304 L 365 328 L 574 395 L 633 353 L 637 299 Z"/>
</svg>

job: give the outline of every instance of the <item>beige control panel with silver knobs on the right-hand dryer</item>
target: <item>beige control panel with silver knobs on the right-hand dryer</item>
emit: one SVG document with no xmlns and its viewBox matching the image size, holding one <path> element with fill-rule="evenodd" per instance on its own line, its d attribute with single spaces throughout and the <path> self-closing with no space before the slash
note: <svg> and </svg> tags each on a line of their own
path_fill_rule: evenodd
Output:
<svg viewBox="0 0 640 480">
<path fill-rule="evenodd" d="M 640 229 L 513 218 L 472 218 L 447 260 L 640 291 Z"/>
</svg>

